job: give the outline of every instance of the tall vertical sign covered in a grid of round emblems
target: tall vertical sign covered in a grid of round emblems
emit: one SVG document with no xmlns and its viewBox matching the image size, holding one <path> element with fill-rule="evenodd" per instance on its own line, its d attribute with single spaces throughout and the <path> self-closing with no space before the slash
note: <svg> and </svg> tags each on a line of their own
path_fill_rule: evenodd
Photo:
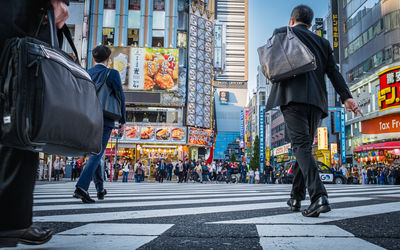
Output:
<svg viewBox="0 0 400 250">
<path fill-rule="evenodd" d="M 187 118 L 189 126 L 211 128 L 213 79 L 213 22 L 190 5 Z"/>
</svg>

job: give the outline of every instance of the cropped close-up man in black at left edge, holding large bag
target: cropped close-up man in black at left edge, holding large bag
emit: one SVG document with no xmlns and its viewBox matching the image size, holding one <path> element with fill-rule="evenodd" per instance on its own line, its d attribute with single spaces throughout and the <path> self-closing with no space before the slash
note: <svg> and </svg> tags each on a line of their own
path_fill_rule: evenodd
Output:
<svg viewBox="0 0 400 250">
<path fill-rule="evenodd" d="M 0 1 L 0 51 L 8 38 L 34 36 L 42 25 L 42 9 L 53 7 L 56 26 L 61 29 L 69 15 L 68 4 L 69 0 Z M 48 25 L 42 26 L 38 38 L 48 41 Z M 52 237 L 51 230 L 32 226 L 38 164 L 38 153 L 0 144 L 0 248 L 17 243 L 43 244 Z"/>
</svg>

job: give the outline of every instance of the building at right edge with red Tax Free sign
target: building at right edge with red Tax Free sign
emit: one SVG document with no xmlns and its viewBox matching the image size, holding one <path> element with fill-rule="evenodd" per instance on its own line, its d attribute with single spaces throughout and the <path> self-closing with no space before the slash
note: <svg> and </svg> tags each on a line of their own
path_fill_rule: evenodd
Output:
<svg viewBox="0 0 400 250">
<path fill-rule="evenodd" d="M 339 1 L 339 27 L 341 70 L 364 113 L 346 115 L 346 153 L 358 165 L 392 163 L 400 148 L 400 2 Z"/>
</svg>

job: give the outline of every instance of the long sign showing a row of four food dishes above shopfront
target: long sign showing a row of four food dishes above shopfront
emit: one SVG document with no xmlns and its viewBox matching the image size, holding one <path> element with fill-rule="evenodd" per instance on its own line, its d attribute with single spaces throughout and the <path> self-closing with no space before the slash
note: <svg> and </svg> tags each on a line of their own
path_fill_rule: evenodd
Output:
<svg viewBox="0 0 400 250">
<path fill-rule="evenodd" d="M 122 141 L 139 143 L 185 144 L 186 128 L 175 126 L 127 125 Z"/>
</svg>

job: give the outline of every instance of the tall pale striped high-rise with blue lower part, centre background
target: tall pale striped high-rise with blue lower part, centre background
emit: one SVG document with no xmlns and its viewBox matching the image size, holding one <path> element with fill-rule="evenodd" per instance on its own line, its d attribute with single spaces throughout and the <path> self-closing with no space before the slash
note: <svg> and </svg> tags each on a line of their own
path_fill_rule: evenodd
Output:
<svg viewBox="0 0 400 250">
<path fill-rule="evenodd" d="M 241 135 L 241 111 L 247 102 L 248 0 L 216 0 L 215 8 L 214 87 L 218 134 L 214 158 L 222 160 L 229 143 Z"/>
</svg>

